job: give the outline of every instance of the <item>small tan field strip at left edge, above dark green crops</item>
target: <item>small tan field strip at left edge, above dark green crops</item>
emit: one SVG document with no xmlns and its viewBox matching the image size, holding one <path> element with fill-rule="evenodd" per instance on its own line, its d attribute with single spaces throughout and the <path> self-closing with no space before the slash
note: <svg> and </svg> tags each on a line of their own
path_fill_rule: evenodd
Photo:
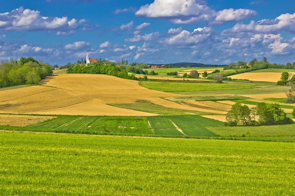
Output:
<svg viewBox="0 0 295 196">
<path fill-rule="evenodd" d="M 56 117 L 46 117 L 46 116 L 23 116 L 23 115 L 0 115 L 0 125 L 9 126 L 28 126 L 31 124 L 42 123 Z"/>
</svg>

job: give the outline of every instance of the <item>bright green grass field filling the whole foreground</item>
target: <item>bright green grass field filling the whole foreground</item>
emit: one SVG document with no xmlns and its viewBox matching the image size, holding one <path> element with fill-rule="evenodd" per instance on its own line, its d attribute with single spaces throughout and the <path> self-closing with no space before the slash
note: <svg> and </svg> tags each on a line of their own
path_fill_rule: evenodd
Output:
<svg viewBox="0 0 295 196">
<path fill-rule="evenodd" d="M 295 195 L 295 144 L 0 133 L 0 195 Z"/>
</svg>

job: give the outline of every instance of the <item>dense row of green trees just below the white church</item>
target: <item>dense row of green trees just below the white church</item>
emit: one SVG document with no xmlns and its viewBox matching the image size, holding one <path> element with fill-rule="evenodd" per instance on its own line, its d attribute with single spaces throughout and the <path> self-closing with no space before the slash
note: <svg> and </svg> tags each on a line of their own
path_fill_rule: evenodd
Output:
<svg viewBox="0 0 295 196">
<path fill-rule="evenodd" d="M 131 66 L 130 66 L 131 67 Z M 125 68 L 125 69 L 123 69 Z M 129 75 L 126 66 L 117 66 L 115 63 L 103 65 L 101 63 L 93 63 L 89 66 L 75 65 L 69 67 L 67 73 L 92 73 L 92 74 L 106 74 L 124 79 L 139 80 L 134 74 Z"/>
</svg>

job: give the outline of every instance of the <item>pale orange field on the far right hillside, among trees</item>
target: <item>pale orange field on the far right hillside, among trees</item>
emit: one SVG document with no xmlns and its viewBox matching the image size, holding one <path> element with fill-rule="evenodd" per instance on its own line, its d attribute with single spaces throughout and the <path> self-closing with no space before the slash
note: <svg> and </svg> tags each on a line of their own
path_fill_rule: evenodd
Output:
<svg viewBox="0 0 295 196">
<path fill-rule="evenodd" d="M 295 74 L 295 72 L 292 72 Z M 277 82 L 281 78 L 281 73 L 241 73 L 232 75 L 235 79 L 248 79 L 252 81 Z"/>
</svg>

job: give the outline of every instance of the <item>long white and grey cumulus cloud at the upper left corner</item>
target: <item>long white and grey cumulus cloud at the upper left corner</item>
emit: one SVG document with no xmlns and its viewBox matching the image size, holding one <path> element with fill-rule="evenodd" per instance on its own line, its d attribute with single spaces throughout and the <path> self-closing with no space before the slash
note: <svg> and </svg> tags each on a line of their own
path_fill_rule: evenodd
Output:
<svg viewBox="0 0 295 196">
<path fill-rule="evenodd" d="M 11 12 L 0 14 L 2 31 L 70 31 L 77 29 L 86 20 L 80 21 L 68 17 L 44 17 L 37 10 L 20 7 Z"/>
</svg>

